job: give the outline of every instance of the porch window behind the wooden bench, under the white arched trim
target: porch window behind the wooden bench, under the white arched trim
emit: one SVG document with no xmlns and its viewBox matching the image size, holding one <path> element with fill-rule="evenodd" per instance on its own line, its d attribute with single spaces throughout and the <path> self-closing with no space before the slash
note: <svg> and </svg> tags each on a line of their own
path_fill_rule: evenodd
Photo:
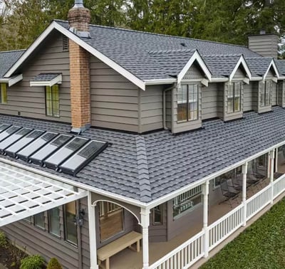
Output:
<svg viewBox="0 0 285 269">
<path fill-rule="evenodd" d="M 109 202 L 99 202 L 101 241 L 123 231 L 123 219 L 123 208 L 121 206 Z"/>
</svg>

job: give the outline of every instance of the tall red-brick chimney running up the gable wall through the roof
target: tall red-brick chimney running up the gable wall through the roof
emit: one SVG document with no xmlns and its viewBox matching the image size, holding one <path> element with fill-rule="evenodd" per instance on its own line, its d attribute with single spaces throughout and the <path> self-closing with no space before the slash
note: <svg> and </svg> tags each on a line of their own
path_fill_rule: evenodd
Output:
<svg viewBox="0 0 285 269">
<path fill-rule="evenodd" d="M 89 37 L 90 11 L 83 1 L 75 1 L 68 12 L 69 30 L 81 37 Z M 90 54 L 69 39 L 71 78 L 71 132 L 84 132 L 90 127 Z"/>
</svg>

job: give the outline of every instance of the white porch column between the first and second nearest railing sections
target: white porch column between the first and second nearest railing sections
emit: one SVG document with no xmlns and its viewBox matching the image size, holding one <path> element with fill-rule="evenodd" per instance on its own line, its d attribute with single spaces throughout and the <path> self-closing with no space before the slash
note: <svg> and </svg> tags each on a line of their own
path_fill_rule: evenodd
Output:
<svg viewBox="0 0 285 269">
<path fill-rule="evenodd" d="M 203 231 L 204 231 L 204 258 L 209 255 L 209 230 L 208 230 L 208 204 L 209 204 L 209 180 L 202 185 L 203 194 Z"/>
</svg>

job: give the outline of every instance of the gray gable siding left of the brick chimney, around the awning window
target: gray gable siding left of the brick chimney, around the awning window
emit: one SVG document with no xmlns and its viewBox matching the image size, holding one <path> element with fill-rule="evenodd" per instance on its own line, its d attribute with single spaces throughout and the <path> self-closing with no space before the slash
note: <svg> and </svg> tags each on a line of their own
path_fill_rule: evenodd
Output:
<svg viewBox="0 0 285 269">
<path fill-rule="evenodd" d="M 23 80 L 8 88 L 6 105 L 0 104 L 0 113 L 21 115 L 43 120 L 71 122 L 69 53 L 62 51 L 62 35 L 53 33 L 43 46 L 31 56 L 23 71 Z M 30 87 L 30 80 L 39 73 L 62 73 L 63 83 L 59 87 L 60 117 L 46 116 L 45 88 Z"/>
</svg>

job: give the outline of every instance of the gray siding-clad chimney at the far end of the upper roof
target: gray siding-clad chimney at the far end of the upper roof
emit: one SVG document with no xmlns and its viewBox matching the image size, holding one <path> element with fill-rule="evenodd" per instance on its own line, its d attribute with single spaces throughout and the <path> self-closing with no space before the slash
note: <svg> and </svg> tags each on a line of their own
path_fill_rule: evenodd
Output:
<svg viewBox="0 0 285 269">
<path fill-rule="evenodd" d="M 278 36 L 260 31 L 259 35 L 249 36 L 249 49 L 270 58 L 278 56 Z"/>
</svg>

